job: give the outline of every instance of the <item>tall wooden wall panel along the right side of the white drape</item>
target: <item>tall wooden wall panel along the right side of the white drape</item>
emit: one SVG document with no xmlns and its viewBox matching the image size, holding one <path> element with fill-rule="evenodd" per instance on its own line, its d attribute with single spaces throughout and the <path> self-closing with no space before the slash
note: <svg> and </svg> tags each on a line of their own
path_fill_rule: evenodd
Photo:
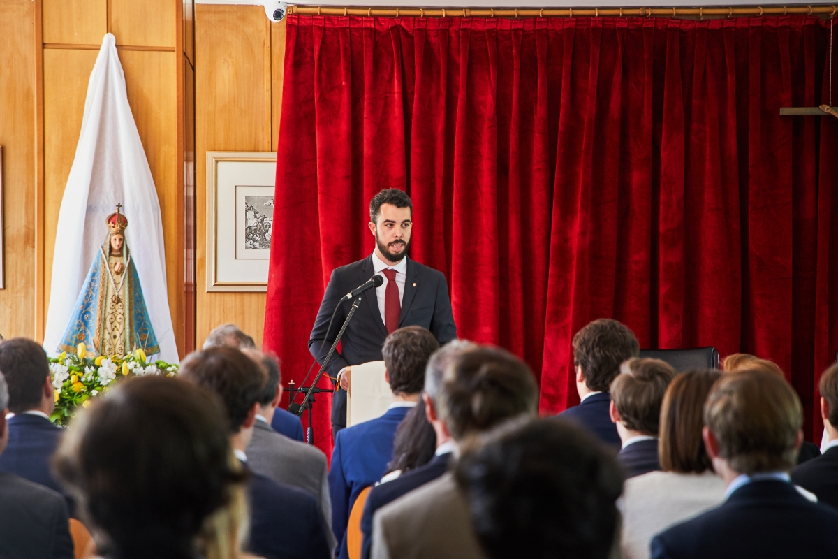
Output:
<svg viewBox="0 0 838 559">
<path fill-rule="evenodd" d="M 124 50 L 119 53 L 128 103 L 137 122 L 160 200 L 166 250 L 168 306 L 178 352 L 184 351 L 184 192 L 178 166 L 177 53 Z M 136 242 L 136 241 L 135 241 Z"/>
</svg>

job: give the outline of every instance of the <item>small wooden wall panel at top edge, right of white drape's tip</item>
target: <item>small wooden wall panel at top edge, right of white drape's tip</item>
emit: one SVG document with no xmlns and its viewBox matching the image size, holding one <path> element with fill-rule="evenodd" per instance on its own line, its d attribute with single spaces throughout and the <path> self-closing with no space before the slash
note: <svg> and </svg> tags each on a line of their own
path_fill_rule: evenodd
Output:
<svg viewBox="0 0 838 559">
<path fill-rule="evenodd" d="M 108 0 L 108 28 L 116 44 L 175 46 L 177 0 Z M 101 44 L 101 38 L 95 41 Z"/>
</svg>

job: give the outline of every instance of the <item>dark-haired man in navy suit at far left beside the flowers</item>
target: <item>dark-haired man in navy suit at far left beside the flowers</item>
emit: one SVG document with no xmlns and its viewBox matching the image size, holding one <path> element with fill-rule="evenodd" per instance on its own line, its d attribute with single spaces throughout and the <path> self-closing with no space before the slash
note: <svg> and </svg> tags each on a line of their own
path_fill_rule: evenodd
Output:
<svg viewBox="0 0 838 559">
<path fill-rule="evenodd" d="M 25 338 L 3 342 L 0 371 L 8 383 L 8 409 L 14 413 L 8 420 L 8 447 L 0 456 L 0 471 L 64 493 L 49 471 L 63 430 L 49 421 L 55 398 L 44 348 Z M 65 497 L 72 512 L 71 499 Z"/>
</svg>

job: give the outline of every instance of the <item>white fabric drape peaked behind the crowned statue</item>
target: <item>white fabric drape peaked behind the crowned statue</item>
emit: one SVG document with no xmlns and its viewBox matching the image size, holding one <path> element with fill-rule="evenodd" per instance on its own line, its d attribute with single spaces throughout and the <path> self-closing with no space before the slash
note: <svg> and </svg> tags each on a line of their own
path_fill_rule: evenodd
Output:
<svg viewBox="0 0 838 559">
<path fill-rule="evenodd" d="M 87 85 L 85 116 L 67 178 L 55 235 L 44 349 L 55 354 L 75 300 L 102 242 L 102 224 L 116 204 L 131 223 L 131 246 L 159 359 L 178 362 L 166 291 L 163 223 L 151 169 L 128 106 L 116 39 L 106 34 Z"/>
</svg>

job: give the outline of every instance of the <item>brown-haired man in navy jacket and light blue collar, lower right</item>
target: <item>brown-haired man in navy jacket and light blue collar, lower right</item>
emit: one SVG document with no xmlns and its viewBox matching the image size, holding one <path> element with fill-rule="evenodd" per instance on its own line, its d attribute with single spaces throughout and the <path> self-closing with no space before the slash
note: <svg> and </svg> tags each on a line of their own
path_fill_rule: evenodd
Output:
<svg viewBox="0 0 838 559">
<path fill-rule="evenodd" d="M 838 557 L 838 510 L 813 503 L 791 484 L 803 440 L 794 389 L 768 370 L 716 381 L 702 432 L 727 501 L 655 536 L 653 559 Z"/>
</svg>

